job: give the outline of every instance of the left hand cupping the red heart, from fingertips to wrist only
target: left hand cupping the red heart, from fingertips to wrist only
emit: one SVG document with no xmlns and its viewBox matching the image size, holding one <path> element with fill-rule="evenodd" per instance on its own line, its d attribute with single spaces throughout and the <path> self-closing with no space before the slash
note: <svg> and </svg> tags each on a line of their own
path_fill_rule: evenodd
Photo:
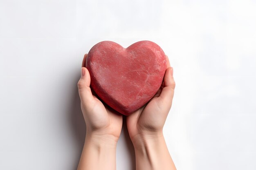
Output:
<svg viewBox="0 0 256 170">
<path fill-rule="evenodd" d="M 86 136 L 103 137 L 106 140 L 117 142 L 121 133 L 123 117 L 92 94 L 90 73 L 85 68 L 86 57 L 87 54 L 84 55 L 81 78 L 77 84 L 86 124 Z"/>
</svg>

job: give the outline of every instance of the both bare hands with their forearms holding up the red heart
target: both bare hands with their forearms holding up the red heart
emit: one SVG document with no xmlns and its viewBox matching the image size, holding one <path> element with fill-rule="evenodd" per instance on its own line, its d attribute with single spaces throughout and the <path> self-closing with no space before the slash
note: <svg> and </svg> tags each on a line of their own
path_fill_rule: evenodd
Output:
<svg viewBox="0 0 256 170">
<path fill-rule="evenodd" d="M 123 117 L 101 102 L 90 88 L 90 73 L 84 55 L 78 82 L 86 137 L 77 170 L 115 170 L 116 146 Z M 136 170 L 176 170 L 168 152 L 163 126 L 171 109 L 175 82 L 167 59 L 164 81 L 157 94 L 142 108 L 127 116 L 126 123 L 135 148 Z"/>
</svg>

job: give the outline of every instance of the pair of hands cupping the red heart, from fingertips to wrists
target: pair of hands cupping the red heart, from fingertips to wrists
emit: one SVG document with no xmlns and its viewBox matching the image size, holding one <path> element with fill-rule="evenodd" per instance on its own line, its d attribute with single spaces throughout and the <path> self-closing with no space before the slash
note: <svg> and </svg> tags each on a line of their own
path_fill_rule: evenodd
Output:
<svg viewBox="0 0 256 170">
<path fill-rule="evenodd" d="M 90 73 L 85 68 L 86 57 L 87 54 L 83 58 L 78 82 L 81 109 L 87 127 L 86 136 L 107 139 L 107 142 L 116 144 L 121 133 L 123 115 L 103 104 L 91 91 Z M 159 91 L 146 105 L 126 117 L 128 132 L 134 145 L 163 135 L 163 126 L 171 109 L 175 88 L 173 68 L 167 56 L 166 59 L 167 69 Z"/>
</svg>

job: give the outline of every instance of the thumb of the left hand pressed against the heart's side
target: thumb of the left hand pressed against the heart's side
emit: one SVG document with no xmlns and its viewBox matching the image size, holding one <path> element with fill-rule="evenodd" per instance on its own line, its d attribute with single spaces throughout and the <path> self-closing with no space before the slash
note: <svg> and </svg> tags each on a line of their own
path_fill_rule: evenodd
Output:
<svg viewBox="0 0 256 170">
<path fill-rule="evenodd" d="M 92 91 L 90 88 L 90 73 L 87 68 L 81 68 L 81 78 L 79 79 L 77 86 L 81 102 L 91 102 L 93 99 Z"/>
</svg>

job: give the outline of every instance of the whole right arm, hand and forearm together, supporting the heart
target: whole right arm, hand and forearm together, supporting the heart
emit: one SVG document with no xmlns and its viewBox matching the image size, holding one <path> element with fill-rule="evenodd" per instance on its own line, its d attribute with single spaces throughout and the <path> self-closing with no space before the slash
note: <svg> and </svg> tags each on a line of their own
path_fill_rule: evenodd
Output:
<svg viewBox="0 0 256 170">
<path fill-rule="evenodd" d="M 135 148 L 136 170 L 176 170 L 166 146 L 163 127 L 171 109 L 175 81 L 167 59 L 164 81 L 157 94 L 126 119 Z"/>
</svg>

